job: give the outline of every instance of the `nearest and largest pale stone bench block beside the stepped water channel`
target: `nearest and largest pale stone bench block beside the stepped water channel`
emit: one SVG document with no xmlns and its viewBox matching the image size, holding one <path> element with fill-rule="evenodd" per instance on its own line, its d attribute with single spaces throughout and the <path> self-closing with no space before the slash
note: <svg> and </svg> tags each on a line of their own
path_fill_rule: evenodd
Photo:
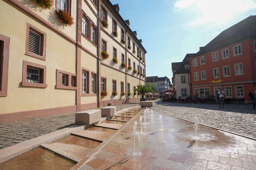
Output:
<svg viewBox="0 0 256 170">
<path fill-rule="evenodd" d="M 101 119 L 101 110 L 100 109 L 91 109 L 76 112 L 75 124 L 86 124 L 91 125 L 97 122 L 100 122 Z"/>
</svg>

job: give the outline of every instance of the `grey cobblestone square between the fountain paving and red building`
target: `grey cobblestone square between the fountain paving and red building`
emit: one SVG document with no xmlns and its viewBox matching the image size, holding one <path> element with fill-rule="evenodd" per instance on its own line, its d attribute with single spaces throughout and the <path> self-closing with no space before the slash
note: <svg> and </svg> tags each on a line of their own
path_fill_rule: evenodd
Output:
<svg viewBox="0 0 256 170">
<path fill-rule="evenodd" d="M 194 120 L 213 127 L 256 137 L 256 110 L 252 104 L 227 104 L 220 108 L 216 104 L 194 104 L 155 101 L 153 108 L 187 120 Z"/>
</svg>

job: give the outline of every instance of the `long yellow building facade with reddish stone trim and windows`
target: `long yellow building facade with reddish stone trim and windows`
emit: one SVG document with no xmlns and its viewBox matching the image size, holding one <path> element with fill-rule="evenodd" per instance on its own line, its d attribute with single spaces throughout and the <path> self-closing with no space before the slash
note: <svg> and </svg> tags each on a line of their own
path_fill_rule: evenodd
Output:
<svg viewBox="0 0 256 170">
<path fill-rule="evenodd" d="M 35 1 L 3 0 L 0 9 L 0 122 L 140 100 L 133 89 L 145 84 L 146 50 L 118 4 L 54 0 L 49 10 Z M 74 23 L 64 26 L 58 10 Z"/>
</svg>

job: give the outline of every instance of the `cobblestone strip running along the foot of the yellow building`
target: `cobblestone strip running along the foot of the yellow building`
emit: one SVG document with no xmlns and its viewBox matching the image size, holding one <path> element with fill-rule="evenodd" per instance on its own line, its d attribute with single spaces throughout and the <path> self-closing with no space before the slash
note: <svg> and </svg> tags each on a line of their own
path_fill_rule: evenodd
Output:
<svg viewBox="0 0 256 170">
<path fill-rule="evenodd" d="M 138 106 L 139 103 L 115 105 L 116 110 Z M 75 113 L 30 118 L 0 123 L 0 149 L 73 125 Z"/>
</svg>

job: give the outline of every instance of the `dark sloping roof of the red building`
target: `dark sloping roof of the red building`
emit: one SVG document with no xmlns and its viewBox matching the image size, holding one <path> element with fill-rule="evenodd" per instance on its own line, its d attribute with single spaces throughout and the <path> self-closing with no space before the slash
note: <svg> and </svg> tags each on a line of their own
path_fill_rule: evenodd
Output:
<svg viewBox="0 0 256 170">
<path fill-rule="evenodd" d="M 210 41 L 196 53 L 196 56 L 235 44 L 249 38 L 256 38 L 256 15 L 245 18 L 237 24 L 222 31 L 217 37 Z M 192 57 L 190 57 L 192 58 Z"/>
</svg>

